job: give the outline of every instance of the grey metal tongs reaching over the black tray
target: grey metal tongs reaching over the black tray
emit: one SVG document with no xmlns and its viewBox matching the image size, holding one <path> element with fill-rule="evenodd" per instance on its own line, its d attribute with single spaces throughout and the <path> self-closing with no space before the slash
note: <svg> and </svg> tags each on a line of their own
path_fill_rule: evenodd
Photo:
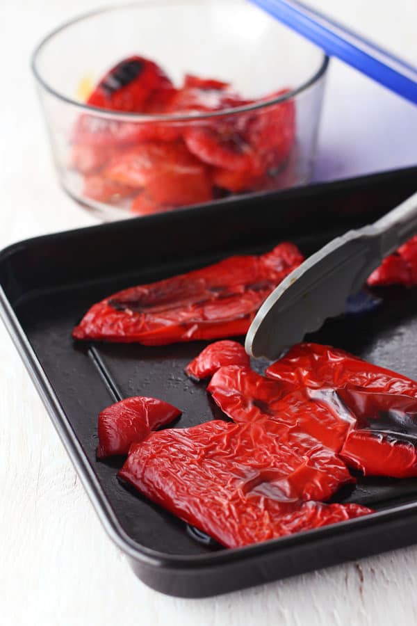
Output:
<svg viewBox="0 0 417 626">
<path fill-rule="evenodd" d="M 377 222 L 336 237 L 289 274 L 265 300 L 246 335 L 254 357 L 276 359 L 288 346 L 345 311 L 382 259 L 417 234 L 417 193 Z"/>
</svg>

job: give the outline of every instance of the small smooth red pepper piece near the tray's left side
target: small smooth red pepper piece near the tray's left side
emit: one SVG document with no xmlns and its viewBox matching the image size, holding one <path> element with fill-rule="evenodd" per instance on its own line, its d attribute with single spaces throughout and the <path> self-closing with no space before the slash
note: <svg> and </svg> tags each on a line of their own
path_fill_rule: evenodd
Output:
<svg viewBox="0 0 417 626">
<path fill-rule="evenodd" d="M 127 454 L 131 444 L 138 443 L 151 431 L 170 424 L 181 411 L 156 398 L 135 396 L 112 404 L 99 415 L 97 457 Z"/>
</svg>

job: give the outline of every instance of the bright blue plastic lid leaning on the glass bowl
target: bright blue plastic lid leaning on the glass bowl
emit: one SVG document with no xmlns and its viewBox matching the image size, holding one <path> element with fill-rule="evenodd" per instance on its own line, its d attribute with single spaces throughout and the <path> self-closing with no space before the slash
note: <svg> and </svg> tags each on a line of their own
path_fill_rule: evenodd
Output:
<svg viewBox="0 0 417 626">
<path fill-rule="evenodd" d="M 417 69 L 296 0 L 251 0 L 300 35 L 417 104 Z"/>
</svg>

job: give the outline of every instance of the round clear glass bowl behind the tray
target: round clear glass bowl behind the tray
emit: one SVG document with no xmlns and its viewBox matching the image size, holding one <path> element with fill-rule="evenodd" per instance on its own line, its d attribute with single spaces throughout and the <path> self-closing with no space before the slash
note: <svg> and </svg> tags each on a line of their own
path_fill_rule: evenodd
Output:
<svg viewBox="0 0 417 626">
<path fill-rule="evenodd" d="M 136 54 L 176 86 L 186 74 L 218 79 L 252 103 L 158 115 L 85 104 Z M 60 182 L 107 220 L 309 182 L 327 64 L 245 0 L 106 8 L 56 29 L 33 54 Z"/>
</svg>

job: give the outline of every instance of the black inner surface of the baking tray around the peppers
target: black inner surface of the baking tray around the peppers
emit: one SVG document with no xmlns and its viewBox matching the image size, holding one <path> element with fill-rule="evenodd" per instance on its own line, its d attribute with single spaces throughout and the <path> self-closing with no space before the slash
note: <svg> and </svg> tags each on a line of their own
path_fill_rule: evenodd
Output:
<svg viewBox="0 0 417 626">
<path fill-rule="evenodd" d="M 31 240 L 2 253 L 0 279 L 6 298 L 106 501 L 133 542 L 167 555 L 231 552 L 198 542 L 183 522 L 122 485 L 117 480 L 122 459 L 96 460 L 99 411 L 119 396 L 140 394 L 181 408 L 176 428 L 222 416 L 208 399 L 205 386 L 183 374 L 205 342 L 155 348 L 95 344 L 91 350 L 88 344 L 75 344 L 71 339 L 71 330 L 85 310 L 124 287 L 166 278 L 227 255 L 258 253 L 285 239 L 309 255 L 347 227 L 367 223 L 400 202 L 414 191 L 415 179 L 416 170 L 407 170 L 295 190 L 276 198 L 225 202 L 223 207 Z M 281 214 L 272 200 L 274 204 L 280 200 Z M 379 309 L 327 321 L 309 339 L 345 348 L 417 378 L 417 289 L 390 288 L 378 295 L 383 297 Z M 255 364 L 260 371 L 263 366 Z M 340 492 L 334 500 L 384 510 L 417 501 L 417 480 L 359 479 L 355 488 Z"/>
</svg>

